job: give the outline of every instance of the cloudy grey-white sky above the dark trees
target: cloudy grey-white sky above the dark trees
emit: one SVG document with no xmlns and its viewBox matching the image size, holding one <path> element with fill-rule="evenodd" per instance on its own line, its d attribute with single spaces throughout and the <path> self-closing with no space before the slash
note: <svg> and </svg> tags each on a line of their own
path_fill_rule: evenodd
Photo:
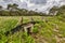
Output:
<svg viewBox="0 0 65 43">
<path fill-rule="evenodd" d="M 0 0 L 0 5 L 4 8 L 6 8 L 9 3 L 16 3 L 21 9 L 32 11 L 38 9 L 38 12 L 48 13 L 53 5 L 61 6 L 65 4 L 65 0 Z"/>
</svg>

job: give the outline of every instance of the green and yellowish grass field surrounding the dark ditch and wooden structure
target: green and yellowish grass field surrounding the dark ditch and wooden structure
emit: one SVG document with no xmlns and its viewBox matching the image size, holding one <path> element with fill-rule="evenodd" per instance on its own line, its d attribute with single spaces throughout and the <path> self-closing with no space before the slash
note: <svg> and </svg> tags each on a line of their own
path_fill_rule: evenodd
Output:
<svg viewBox="0 0 65 43">
<path fill-rule="evenodd" d="M 65 43 L 65 18 L 61 16 L 23 16 L 24 23 L 36 22 L 34 34 L 15 32 L 5 37 L 4 32 L 10 31 L 20 24 L 21 16 L 0 16 L 0 43 Z"/>
</svg>

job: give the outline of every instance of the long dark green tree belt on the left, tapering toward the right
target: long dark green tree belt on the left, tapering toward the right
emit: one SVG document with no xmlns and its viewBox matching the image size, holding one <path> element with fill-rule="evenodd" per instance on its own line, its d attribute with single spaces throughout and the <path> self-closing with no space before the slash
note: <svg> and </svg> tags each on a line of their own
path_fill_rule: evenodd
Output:
<svg viewBox="0 0 65 43">
<path fill-rule="evenodd" d="M 35 15 L 46 15 L 43 13 L 37 13 L 35 11 L 28 11 L 26 9 L 20 9 L 17 4 L 8 4 L 8 8 L 3 10 L 0 5 L 0 16 L 35 16 Z"/>
</svg>

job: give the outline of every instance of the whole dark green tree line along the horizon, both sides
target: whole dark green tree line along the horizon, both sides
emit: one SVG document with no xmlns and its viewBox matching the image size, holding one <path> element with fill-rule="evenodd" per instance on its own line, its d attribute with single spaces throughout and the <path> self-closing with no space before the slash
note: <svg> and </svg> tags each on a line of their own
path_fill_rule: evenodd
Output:
<svg viewBox="0 0 65 43">
<path fill-rule="evenodd" d="M 65 5 L 63 5 L 61 8 L 53 6 L 49 12 L 53 13 L 55 11 L 58 11 L 58 13 L 61 13 L 61 11 L 63 11 L 63 10 L 65 11 Z M 58 13 L 57 13 L 57 15 L 58 15 Z M 42 12 L 38 13 L 35 11 L 28 11 L 26 9 L 20 9 L 18 4 L 16 4 L 16 3 L 8 4 L 5 10 L 3 10 L 3 6 L 0 5 L 0 16 L 36 16 L 36 15 L 43 16 L 47 14 L 42 13 Z"/>
</svg>

